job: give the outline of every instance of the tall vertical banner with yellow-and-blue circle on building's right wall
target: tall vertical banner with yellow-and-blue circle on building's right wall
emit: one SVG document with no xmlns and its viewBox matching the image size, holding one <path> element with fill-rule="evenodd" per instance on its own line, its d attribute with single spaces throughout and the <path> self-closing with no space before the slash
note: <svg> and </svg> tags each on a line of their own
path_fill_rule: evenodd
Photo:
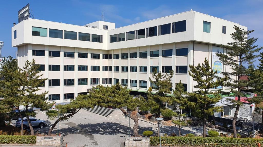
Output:
<svg viewBox="0 0 263 147">
<path fill-rule="evenodd" d="M 223 63 L 219 60 L 219 56 L 216 53 L 224 53 L 224 48 L 212 46 L 212 69 L 213 71 L 217 71 L 216 76 L 223 77 Z M 215 79 L 214 79 L 215 80 Z M 213 89 L 222 89 L 222 86 L 218 86 Z"/>
</svg>

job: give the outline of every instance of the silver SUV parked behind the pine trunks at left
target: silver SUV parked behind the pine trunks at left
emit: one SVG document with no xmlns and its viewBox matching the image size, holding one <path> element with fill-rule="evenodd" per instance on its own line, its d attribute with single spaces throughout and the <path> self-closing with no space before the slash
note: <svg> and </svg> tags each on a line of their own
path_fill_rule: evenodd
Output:
<svg viewBox="0 0 263 147">
<path fill-rule="evenodd" d="M 32 126 L 39 126 L 39 127 L 44 127 L 46 125 L 46 121 L 45 120 L 41 120 L 41 119 L 37 119 L 35 117 L 29 117 L 29 120 L 32 123 Z M 16 127 L 21 127 L 21 118 L 18 118 L 18 120 L 16 121 Z M 27 118 L 24 117 L 23 118 L 23 129 L 26 129 L 28 127 L 28 121 Z"/>
</svg>

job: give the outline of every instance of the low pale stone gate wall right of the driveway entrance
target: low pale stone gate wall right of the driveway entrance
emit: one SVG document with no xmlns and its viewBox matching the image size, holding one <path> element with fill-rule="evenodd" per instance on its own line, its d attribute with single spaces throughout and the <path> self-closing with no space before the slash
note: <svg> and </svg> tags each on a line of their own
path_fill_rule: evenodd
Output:
<svg viewBox="0 0 263 147">
<path fill-rule="evenodd" d="M 149 147 L 149 137 L 126 137 L 125 147 Z"/>
</svg>

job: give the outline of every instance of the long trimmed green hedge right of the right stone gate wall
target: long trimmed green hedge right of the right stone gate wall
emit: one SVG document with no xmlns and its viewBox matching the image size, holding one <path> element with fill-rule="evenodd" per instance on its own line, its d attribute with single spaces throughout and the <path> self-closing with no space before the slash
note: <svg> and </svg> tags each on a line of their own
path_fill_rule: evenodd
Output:
<svg viewBox="0 0 263 147">
<path fill-rule="evenodd" d="M 230 138 L 230 137 L 161 137 L 161 144 L 185 144 L 189 146 L 257 146 L 256 143 L 263 144 L 263 139 L 256 138 Z M 208 144 L 208 145 L 207 145 Z M 239 144 L 239 145 L 237 145 Z M 150 145 L 159 145 L 159 137 L 150 137 Z"/>
</svg>

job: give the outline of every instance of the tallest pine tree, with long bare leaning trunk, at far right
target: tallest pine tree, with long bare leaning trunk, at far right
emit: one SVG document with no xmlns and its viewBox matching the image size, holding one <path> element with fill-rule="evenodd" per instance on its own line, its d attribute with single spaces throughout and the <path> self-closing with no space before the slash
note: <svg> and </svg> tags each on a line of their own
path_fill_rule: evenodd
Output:
<svg viewBox="0 0 263 147">
<path fill-rule="evenodd" d="M 248 75 L 248 70 L 245 64 L 252 64 L 254 59 L 258 57 L 258 55 L 255 55 L 254 53 L 259 52 L 263 47 L 258 48 L 255 46 L 254 43 L 258 38 L 249 36 L 249 34 L 254 32 L 254 30 L 246 31 L 238 26 L 235 26 L 234 29 L 236 32 L 231 33 L 233 42 L 227 43 L 227 46 L 221 45 L 222 48 L 227 50 L 227 54 L 217 53 L 216 55 L 219 56 L 220 60 L 225 65 L 231 67 L 231 71 L 222 72 L 222 74 L 225 77 L 228 77 L 225 82 L 225 87 L 233 88 L 233 93 L 238 98 L 237 100 L 231 100 L 231 102 L 236 105 L 232 123 L 234 137 L 236 138 L 236 119 L 240 105 L 242 105 L 240 97 L 244 95 L 241 93 L 241 88 L 249 86 L 249 83 L 246 80 L 240 80 L 240 77 Z"/>
</svg>

